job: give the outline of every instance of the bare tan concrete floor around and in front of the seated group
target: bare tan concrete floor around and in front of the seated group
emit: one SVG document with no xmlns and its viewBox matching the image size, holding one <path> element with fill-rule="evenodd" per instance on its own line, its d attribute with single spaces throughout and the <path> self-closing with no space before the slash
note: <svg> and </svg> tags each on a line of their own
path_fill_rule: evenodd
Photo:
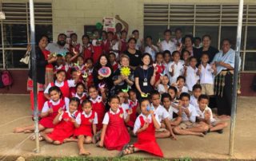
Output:
<svg viewBox="0 0 256 161">
<path fill-rule="evenodd" d="M 204 138 L 197 136 L 178 136 L 178 140 L 158 139 L 165 158 L 174 159 L 190 157 L 192 159 L 256 159 L 256 98 L 239 97 L 238 114 L 235 127 L 234 156 L 230 158 L 229 135 L 230 128 L 226 128 L 223 134 L 210 133 Z M 13 129 L 26 124 L 33 124 L 30 118 L 30 98 L 26 95 L 0 95 L 0 160 L 8 157 L 34 156 L 35 143 L 30 141 L 30 134 L 14 134 Z M 27 117 L 26 117 L 27 116 Z M 26 118 L 24 118 L 26 117 Z M 15 120 L 18 119 L 19 120 Z M 135 139 L 133 139 L 134 141 Z M 64 143 L 54 146 L 46 142 L 40 143 L 43 156 L 77 156 L 76 143 Z M 106 151 L 95 145 L 85 146 L 91 152 L 91 156 L 114 157 L 118 151 Z M 4 157 L 7 158 L 4 158 Z M 143 152 L 136 153 L 135 157 L 150 157 Z"/>
</svg>

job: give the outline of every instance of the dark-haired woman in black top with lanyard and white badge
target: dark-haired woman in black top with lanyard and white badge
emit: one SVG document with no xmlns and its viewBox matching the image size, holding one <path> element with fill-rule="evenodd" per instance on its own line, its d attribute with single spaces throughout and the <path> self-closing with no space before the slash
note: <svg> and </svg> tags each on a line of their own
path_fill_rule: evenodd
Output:
<svg viewBox="0 0 256 161">
<path fill-rule="evenodd" d="M 149 53 L 142 55 L 142 65 L 134 72 L 135 85 L 141 96 L 154 90 L 155 76 L 157 70 L 152 65 L 152 57 Z"/>
</svg>

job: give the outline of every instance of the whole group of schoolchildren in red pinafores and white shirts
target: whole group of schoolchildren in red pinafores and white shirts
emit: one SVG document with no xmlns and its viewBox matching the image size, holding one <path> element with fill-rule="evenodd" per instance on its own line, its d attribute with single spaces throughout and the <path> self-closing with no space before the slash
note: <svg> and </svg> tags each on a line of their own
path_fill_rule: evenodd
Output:
<svg viewBox="0 0 256 161">
<path fill-rule="evenodd" d="M 114 37 L 112 33 L 107 34 Z M 94 37 L 97 38 L 98 33 Z M 121 37 L 119 42 L 126 45 L 122 42 L 126 33 L 122 32 Z M 109 40 L 112 42 L 111 38 Z M 141 98 L 134 88 L 115 90 L 110 94 L 110 89 L 104 85 L 94 86 L 94 63 L 101 56 L 92 54 L 91 49 L 95 53 L 97 48 L 93 46 L 102 45 L 102 42 L 95 39 L 90 44 L 86 36 L 82 41 L 86 44 L 84 53 L 78 55 L 75 50 L 81 49 L 77 47 L 72 49 L 75 56 L 72 53 L 57 55 L 55 81 L 47 85 L 46 102 L 39 109 L 40 140 L 56 145 L 75 141 L 79 155 L 90 155 L 84 143 L 97 143 L 98 147 L 120 151 L 120 156 L 146 151 L 162 157 L 156 138 L 203 137 L 208 132 L 222 133 L 226 128 L 226 122 L 214 116 L 208 107 L 210 96 L 214 95 L 216 73 L 216 66 L 209 64 L 208 54 L 202 53 L 198 62 L 186 50 L 182 54 L 177 50 L 155 53 L 152 66 L 157 68 L 158 76 L 154 90 Z M 122 45 L 116 46 L 117 50 L 125 49 Z M 110 46 L 114 49 L 113 44 Z M 129 67 L 129 58 L 119 57 L 115 51 L 108 53 L 108 58 L 113 71 L 122 66 Z M 123 62 L 119 65 L 118 61 Z M 124 80 L 130 86 L 134 84 L 129 77 L 121 81 Z M 114 85 L 120 82 L 117 79 Z M 34 132 L 34 125 L 15 128 L 14 132 Z M 130 135 L 137 136 L 136 143 L 130 143 Z"/>
</svg>

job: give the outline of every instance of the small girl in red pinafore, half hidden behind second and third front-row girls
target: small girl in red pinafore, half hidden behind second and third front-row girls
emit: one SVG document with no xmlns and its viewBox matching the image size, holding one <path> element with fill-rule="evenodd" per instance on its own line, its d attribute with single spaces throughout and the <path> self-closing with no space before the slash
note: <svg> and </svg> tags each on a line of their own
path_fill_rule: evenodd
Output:
<svg viewBox="0 0 256 161">
<path fill-rule="evenodd" d="M 76 97 L 80 100 L 78 106 L 78 112 L 82 112 L 82 101 L 86 100 L 87 94 L 85 92 L 86 87 L 82 82 L 78 82 L 75 86 L 75 92 L 71 92 L 70 98 Z"/>
</svg>

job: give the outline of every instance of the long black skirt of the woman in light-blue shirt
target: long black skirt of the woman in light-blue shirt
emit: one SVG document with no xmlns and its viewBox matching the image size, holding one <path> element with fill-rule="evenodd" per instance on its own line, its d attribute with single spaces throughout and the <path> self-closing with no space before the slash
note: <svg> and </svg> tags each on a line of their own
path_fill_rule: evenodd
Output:
<svg viewBox="0 0 256 161">
<path fill-rule="evenodd" d="M 231 115 L 233 74 L 226 73 L 222 96 L 216 96 L 218 115 Z"/>
</svg>

